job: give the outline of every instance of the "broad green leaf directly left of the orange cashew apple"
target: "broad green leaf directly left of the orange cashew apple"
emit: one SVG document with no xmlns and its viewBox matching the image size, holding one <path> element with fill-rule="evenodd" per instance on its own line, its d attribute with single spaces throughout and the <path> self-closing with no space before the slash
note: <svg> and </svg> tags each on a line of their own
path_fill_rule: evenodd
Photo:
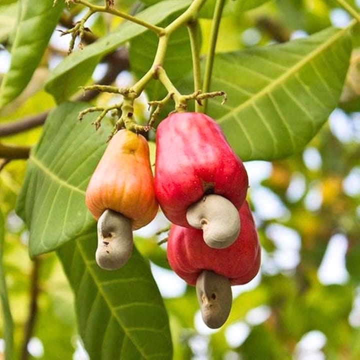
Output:
<svg viewBox="0 0 360 360">
<path fill-rule="evenodd" d="M 65 102 L 51 111 L 27 161 L 16 212 L 30 230 L 31 257 L 54 250 L 94 223 L 84 195 L 110 126 L 103 123 L 95 131 L 90 125 L 95 113 L 79 122 L 84 107 Z"/>
</svg>

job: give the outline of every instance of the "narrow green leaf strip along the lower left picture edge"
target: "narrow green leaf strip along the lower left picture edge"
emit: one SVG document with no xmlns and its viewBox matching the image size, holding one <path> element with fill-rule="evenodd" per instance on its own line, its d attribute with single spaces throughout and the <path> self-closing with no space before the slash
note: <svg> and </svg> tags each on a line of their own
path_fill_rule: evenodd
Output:
<svg viewBox="0 0 360 360">
<path fill-rule="evenodd" d="M 7 297 L 5 274 L 2 267 L 2 254 L 4 243 L 4 219 L 0 211 L 0 301 L 2 308 L 3 336 L 5 340 L 5 358 L 12 359 L 13 356 L 13 323 L 10 311 L 10 305 Z"/>
</svg>

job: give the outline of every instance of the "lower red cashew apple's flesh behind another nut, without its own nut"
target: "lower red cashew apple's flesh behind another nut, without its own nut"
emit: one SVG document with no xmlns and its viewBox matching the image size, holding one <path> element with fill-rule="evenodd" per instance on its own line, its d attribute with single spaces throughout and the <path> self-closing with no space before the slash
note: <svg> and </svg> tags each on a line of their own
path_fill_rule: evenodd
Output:
<svg viewBox="0 0 360 360">
<path fill-rule="evenodd" d="M 167 240 L 167 259 L 171 268 L 193 286 L 205 269 L 227 277 L 231 285 L 250 281 L 260 267 L 260 245 L 246 201 L 239 215 L 241 229 L 238 237 L 232 245 L 221 249 L 206 245 L 202 230 L 172 224 Z"/>
</svg>

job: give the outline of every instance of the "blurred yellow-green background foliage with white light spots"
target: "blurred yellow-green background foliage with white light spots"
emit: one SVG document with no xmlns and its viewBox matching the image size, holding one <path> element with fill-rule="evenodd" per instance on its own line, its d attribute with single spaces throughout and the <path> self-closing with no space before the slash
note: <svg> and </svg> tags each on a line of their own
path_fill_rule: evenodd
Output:
<svg viewBox="0 0 360 360">
<path fill-rule="evenodd" d="M 360 9 L 358 0 L 347 3 Z M 16 23 L 17 1 L 0 1 L 2 6 L 10 14 L 8 30 Z M 141 3 L 117 1 L 116 6 L 128 10 Z M 226 2 L 217 51 L 285 42 L 329 25 L 342 27 L 351 18 L 336 1 L 325 0 L 263 1 L 261 6 L 242 10 L 240 0 Z M 201 16 L 201 51 L 205 53 L 211 1 Z M 101 36 L 117 21 L 98 15 L 91 29 Z M 0 24 L 0 40 L 6 47 L 12 32 L 3 28 Z M 249 284 L 233 287 L 233 306 L 223 327 L 209 330 L 202 323 L 194 288 L 185 286 L 169 270 L 166 245 L 156 244 L 166 233 L 157 237 L 148 228 L 137 233 L 136 246 L 151 260 L 169 312 L 175 359 L 360 358 L 358 34 L 355 28 L 355 50 L 339 106 L 316 137 L 301 153 L 286 159 L 245 164 L 250 179 L 248 198 L 263 249 L 262 265 Z M 56 59 L 66 55 L 66 48 L 58 47 L 55 36 L 31 85 L 1 112 L 1 123 L 54 106 L 42 85 Z M 6 50 L 0 49 L 3 72 L 7 61 Z M 130 73 L 123 74 L 120 81 L 126 82 L 128 77 Z M 101 95 L 97 101 L 106 101 L 106 96 Z M 139 104 L 139 116 L 144 111 Z M 40 131 L 37 127 L 1 141 L 31 146 Z M 5 218 L 3 266 L 14 320 L 16 358 L 85 359 L 76 333 L 72 291 L 58 259 L 50 253 L 31 261 L 27 255 L 27 230 L 13 210 L 24 169 L 25 161 L 13 160 L 0 171 L 0 209 Z M 166 225 L 161 217 L 158 221 Z M 0 358 L 4 349 L 1 321 Z M 26 328 L 31 321 L 34 327 L 28 336 Z M 30 338 L 27 346 L 26 338 Z M 26 347 L 29 357 L 22 354 Z"/>
</svg>

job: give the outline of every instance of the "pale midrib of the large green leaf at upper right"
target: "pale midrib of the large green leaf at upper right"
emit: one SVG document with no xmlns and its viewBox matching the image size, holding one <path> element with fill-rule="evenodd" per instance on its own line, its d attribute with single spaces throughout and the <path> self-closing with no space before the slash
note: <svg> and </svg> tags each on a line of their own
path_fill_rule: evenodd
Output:
<svg viewBox="0 0 360 360">
<path fill-rule="evenodd" d="M 265 95 L 266 93 L 271 92 L 276 86 L 281 85 L 281 83 L 288 77 L 291 77 L 294 75 L 303 65 L 305 65 L 308 61 L 315 58 L 318 54 L 320 54 L 326 47 L 328 47 L 331 43 L 335 42 L 338 38 L 343 36 L 344 32 L 347 32 L 352 26 L 354 26 L 357 23 L 356 20 L 352 20 L 350 24 L 340 30 L 336 35 L 330 37 L 329 40 L 323 42 L 320 46 L 318 46 L 315 50 L 312 52 L 309 52 L 305 57 L 303 57 L 299 62 L 297 62 L 295 65 L 290 67 L 287 71 L 285 71 L 282 75 L 277 77 L 275 80 L 270 82 L 267 86 L 265 86 L 262 90 L 258 91 L 256 94 L 252 95 L 248 100 L 242 102 L 240 105 L 232 108 L 229 112 L 227 112 L 222 117 L 218 118 L 217 122 L 221 123 L 222 121 L 226 120 L 226 118 L 234 116 L 236 112 L 241 111 L 243 108 L 254 105 L 255 101 L 260 98 L 261 96 Z M 304 109 L 304 112 L 306 113 L 306 110 Z"/>
</svg>

